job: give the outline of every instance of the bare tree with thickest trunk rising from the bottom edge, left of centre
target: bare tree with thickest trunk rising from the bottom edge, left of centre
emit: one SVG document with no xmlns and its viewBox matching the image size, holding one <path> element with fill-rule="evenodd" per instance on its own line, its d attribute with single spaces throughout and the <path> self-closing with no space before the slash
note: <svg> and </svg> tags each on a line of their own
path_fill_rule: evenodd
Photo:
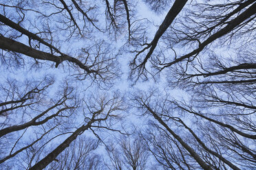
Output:
<svg viewBox="0 0 256 170">
<path fill-rule="evenodd" d="M 76 140 L 79 135 L 83 134 L 83 132 L 88 129 L 92 130 L 94 125 L 100 125 L 101 122 L 107 123 L 111 117 L 118 117 L 118 111 L 125 109 L 123 107 L 122 100 L 117 94 L 115 94 L 113 98 L 109 98 L 103 95 L 100 98 L 94 98 L 96 99 L 95 101 L 92 101 L 92 97 L 91 101 L 85 103 L 87 108 L 83 108 L 85 114 L 85 122 L 82 123 L 82 125 L 78 127 L 74 132 L 72 132 L 72 134 L 66 138 L 65 141 L 63 141 L 63 143 L 59 144 L 54 150 L 50 152 L 50 154 L 47 154 L 47 156 L 45 156 L 39 162 L 36 162 L 36 164 L 30 169 L 45 168 L 50 164 L 50 162 L 54 161 L 63 150 L 69 147 L 72 141 Z"/>
</svg>

